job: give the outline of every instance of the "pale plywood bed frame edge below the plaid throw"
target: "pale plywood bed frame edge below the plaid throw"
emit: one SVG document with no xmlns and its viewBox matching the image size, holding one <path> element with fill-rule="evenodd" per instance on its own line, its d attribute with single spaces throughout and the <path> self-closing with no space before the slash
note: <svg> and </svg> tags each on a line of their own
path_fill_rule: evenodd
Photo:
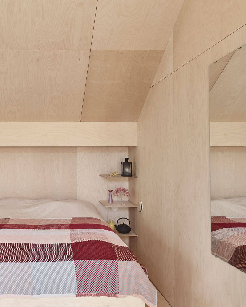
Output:
<svg viewBox="0 0 246 307">
<path fill-rule="evenodd" d="M 1 298 L 3 307 L 144 307 L 139 297 L 42 297 L 42 298 Z M 164 305 L 165 306 L 165 305 Z M 162 306 L 160 306 L 162 307 Z M 165 306 L 166 307 L 166 306 Z"/>
</svg>

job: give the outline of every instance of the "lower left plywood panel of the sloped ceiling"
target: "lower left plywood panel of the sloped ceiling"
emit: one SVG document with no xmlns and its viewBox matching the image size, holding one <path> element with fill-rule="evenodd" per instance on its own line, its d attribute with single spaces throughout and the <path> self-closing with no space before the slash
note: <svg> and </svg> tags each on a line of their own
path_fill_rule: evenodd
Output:
<svg viewBox="0 0 246 307">
<path fill-rule="evenodd" d="M 0 51 L 0 121 L 80 121 L 89 51 Z"/>
</svg>

